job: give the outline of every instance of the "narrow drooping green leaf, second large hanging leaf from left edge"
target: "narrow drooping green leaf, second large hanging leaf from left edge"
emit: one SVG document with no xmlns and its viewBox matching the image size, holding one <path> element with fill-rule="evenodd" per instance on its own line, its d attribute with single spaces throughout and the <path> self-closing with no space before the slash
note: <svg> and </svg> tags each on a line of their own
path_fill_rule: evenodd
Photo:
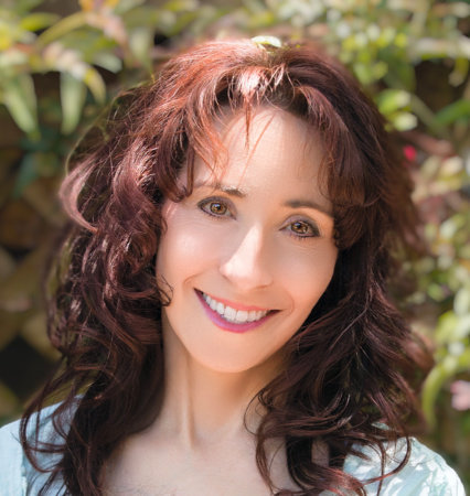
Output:
<svg viewBox="0 0 470 496">
<path fill-rule="evenodd" d="M 61 74 L 62 127 L 64 134 L 75 130 L 85 104 L 86 86 L 68 73 Z"/>
</svg>

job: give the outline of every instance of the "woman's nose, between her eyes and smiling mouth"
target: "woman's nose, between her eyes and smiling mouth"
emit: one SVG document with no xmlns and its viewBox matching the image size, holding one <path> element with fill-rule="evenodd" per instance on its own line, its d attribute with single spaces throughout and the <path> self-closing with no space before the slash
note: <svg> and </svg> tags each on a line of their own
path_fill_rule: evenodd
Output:
<svg viewBox="0 0 470 496">
<path fill-rule="evenodd" d="M 241 291 L 249 291 L 273 282 L 268 247 L 260 228 L 253 227 L 242 239 L 227 240 L 227 255 L 220 271 Z"/>
</svg>

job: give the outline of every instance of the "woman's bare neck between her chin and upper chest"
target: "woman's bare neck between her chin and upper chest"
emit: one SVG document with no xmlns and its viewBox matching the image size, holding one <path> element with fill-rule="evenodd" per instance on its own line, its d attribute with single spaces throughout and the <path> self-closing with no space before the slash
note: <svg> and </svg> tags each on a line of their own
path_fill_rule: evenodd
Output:
<svg viewBox="0 0 470 496">
<path fill-rule="evenodd" d="M 241 373 L 209 369 L 171 332 L 164 333 L 164 359 L 163 402 L 154 424 L 160 432 L 194 448 L 256 431 L 263 409 L 255 397 L 273 378 L 273 363 Z"/>
</svg>

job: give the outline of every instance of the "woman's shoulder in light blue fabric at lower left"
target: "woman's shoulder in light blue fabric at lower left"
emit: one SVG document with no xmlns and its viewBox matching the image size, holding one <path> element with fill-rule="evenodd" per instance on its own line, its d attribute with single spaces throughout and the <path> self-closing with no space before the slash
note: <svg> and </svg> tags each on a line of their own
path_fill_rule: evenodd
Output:
<svg viewBox="0 0 470 496">
<path fill-rule="evenodd" d="M 55 441 L 55 433 L 51 416 L 55 406 L 45 408 L 38 417 L 31 418 L 28 434 L 33 438 L 36 434 L 36 420 L 39 420 L 39 440 Z M 56 463 L 53 455 L 39 454 L 38 462 L 45 470 Z M 49 477 L 49 473 L 38 472 L 26 459 L 20 443 L 20 420 L 3 425 L 0 429 L 0 487 L 8 495 L 38 494 Z M 58 487 L 54 486 L 54 494 L 60 494 Z"/>
</svg>

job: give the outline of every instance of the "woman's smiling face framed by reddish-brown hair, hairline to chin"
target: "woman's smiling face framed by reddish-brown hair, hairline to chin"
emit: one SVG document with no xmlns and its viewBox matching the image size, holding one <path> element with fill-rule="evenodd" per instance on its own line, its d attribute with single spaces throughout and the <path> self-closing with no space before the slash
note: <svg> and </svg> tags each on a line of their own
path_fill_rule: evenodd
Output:
<svg viewBox="0 0 470 496">
<path fill-rule="evenodd" d="M 200 365 L 235 373 L 279 358 L 327 289 L 337 247 L 316 132 L 266 107 L 248 143 L 241 114 L 218 129 L 227 161 L 212 172 L 197 159 L 193 193 L 165 202 L 157 274 L 173 290 L 165 339 Z"/>
</svg>

